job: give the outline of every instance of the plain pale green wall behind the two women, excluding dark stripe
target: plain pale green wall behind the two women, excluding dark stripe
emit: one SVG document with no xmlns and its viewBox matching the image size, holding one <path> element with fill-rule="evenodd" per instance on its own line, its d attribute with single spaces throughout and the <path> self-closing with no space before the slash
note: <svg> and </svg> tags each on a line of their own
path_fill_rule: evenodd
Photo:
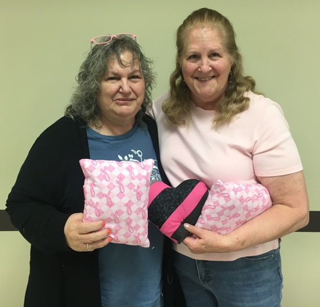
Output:
<svg viewBox="0 0 320 307">
<path fill-rule="evenodd" d="M 0 0 L 0 209 L 35 138 L 63 115 L 90 38 L 135 33 L 155 60 L 155 98 L 168 86 L 175 31 L 200 7 L 231 20 L 246 73 L 283 107 L 303 160 L 310 210 L 320 211 L 317 0 Z M 284 307 L 320 305 L 319 239 L 318 232 L 283 238 Z M 0 305 L 22 306 L 29 244 L 18 232 L 3 231 L 0 246 Z"/>
</svg>

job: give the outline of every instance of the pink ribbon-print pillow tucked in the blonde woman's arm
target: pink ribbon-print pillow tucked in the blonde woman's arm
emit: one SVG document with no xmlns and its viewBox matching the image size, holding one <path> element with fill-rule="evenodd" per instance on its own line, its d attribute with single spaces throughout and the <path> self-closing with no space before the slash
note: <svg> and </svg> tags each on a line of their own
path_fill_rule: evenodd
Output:
<svg viewBox="0 0 320 307">
<path fill-rule="evenodd" d="M 196 226 L 227 234 L 271 206 L 269 191 L 262 184 L 217 180 L 209 191 Z"/>
</svg>

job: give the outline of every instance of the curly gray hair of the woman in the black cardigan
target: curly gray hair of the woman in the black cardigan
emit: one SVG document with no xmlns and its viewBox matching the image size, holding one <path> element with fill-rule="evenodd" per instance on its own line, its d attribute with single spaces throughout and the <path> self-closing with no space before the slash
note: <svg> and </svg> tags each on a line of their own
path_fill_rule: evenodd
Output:
<svg viewBox="0 0 320 307">
<path fill-rule="evenodd" d="M 151 92 L 156 84 L 155 73 L 152 70 L 153 60 L 147 58 L 142 53 L 139 44 L 132 37 L 126 35 L 119 35 L 109 43 L 95 45 L 88 53 L 76 76 L 77 87 L 71 97 L 70 104 L 65 109 L 65 116 L 72 119 L 80 117 L 87 125 L 96 124 L 101 119 L 100 108 L 96 100 L 101 78 L 108 72 L 107 63 L 109 59 L 118 59 L 119 63 L 127 64 L 123 63 L 121 59 L 121 54 L 124 51 L 129 51 L 133 55 L 130 63 L 132 67 L 135 61 L 139 62 L 143 74 L 145 82 L 144 100 L 136 115 L 137 123 L 140 126 L 143 125 L 142 117 L 151 108 Z"/>
</svg>

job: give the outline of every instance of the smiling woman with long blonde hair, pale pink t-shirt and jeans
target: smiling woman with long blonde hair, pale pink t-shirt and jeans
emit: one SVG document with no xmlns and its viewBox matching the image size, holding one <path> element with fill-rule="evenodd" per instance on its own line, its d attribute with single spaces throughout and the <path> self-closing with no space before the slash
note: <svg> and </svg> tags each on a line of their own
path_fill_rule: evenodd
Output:
<svg viewBox="0 0 320 307">
<path fill-rule="evenodd" d="M 188 307 L 279 307 L 282 298 L 280 238 L 307 225 L 303 166 L 280 105 L 255 91 L 243 75 L 230 21 L 202 8 L 177 31 L 170 89 L 154 101 L 162 164 L 176 187 L 187 179 L 263 184 L 272 206 L 250 221 L 251 198 L 227 205 L 219 193 L 215 227 L 185 224 L 191 236 L 173 243 L 175 267 Z M 223 185 L 222 185 L 223 186 Z M 260 197 L 257 192 L 255 197 Z M 253 208 L 256 211 L 258 208 Z M 238 228 L 223 229 L 236 221 Z M 204 221 L 205 222 L 205 221 Z M 204 223 L 205 225 L 205 223 Z"/>
</svg>

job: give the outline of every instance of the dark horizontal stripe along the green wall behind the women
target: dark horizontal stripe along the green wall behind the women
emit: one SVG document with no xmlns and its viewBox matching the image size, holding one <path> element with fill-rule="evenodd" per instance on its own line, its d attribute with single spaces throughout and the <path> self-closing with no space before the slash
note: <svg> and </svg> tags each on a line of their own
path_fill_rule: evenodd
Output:
<svg viewBox="0 0 320 307">
<path fill-rule="evenodd" d="M 17 230 L 11 225 L 8 213 L 0 210 L 0 231 Z M 298 232 L 320 232 L 320 211 L 310 211 L 309 224 Z"/>
</svg>

